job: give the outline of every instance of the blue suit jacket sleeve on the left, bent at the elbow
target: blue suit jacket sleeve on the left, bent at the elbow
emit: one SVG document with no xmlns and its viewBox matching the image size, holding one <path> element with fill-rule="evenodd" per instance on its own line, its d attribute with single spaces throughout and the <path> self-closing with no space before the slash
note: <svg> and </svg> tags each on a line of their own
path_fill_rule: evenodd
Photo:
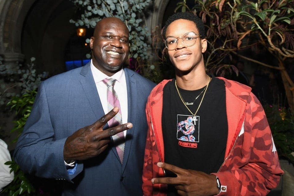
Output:
<svg viewBox="0 0 294 196">
<path fill-rule="evenodd" d="M 82 171 L 83 164 L 78 164 L 75 174 L 69 175 L 63 159 L 66 137 L 55 139 L 54 135 L 46 90 L 44 83 L 41 83 L 32 112 L 15 148 L 15 162 L 25 173 L 70 181 Z"/>
</svg>

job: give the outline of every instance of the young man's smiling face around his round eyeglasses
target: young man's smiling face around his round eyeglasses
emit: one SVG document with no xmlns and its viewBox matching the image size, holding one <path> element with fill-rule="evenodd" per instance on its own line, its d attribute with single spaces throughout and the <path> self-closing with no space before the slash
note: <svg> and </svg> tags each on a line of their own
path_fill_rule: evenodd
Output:
<svg viewBox="0 0 294 196">
<path fill-rule="evenodd" d="M 178 19 L 170 23 L 166 29 L 165 37 L 181 37 L 185 33 L 194 32 L 199 35 L 196 24 L 186 19 Z M 197 36 L 196 43 L 187 46 L 181 38 L 178 39 L 174 50 L 168 50 L 168 56 L 176 68 L 176 72 L 189 73 L 191 70 L 204 69 L 202 53 L 206 51 L 207 41 Z"/>
</svg>

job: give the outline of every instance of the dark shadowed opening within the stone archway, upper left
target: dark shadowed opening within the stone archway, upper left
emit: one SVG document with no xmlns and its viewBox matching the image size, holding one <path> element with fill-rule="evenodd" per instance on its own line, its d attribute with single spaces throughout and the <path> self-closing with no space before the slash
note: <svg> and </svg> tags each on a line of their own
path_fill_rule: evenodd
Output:
<svg viewBox="0 0 294 196">
<path fill-rule="evenodd" d="M 69 0 L 37 0 L 32 5 L 23 25 L 21 49 L 27 62 L 36 58 L 38 72 L 52 76 L 66 71 L 64 49 L 76 32 L 75 25 L 69 23 L 73 17 L 75 7 Z"/>
</svg>

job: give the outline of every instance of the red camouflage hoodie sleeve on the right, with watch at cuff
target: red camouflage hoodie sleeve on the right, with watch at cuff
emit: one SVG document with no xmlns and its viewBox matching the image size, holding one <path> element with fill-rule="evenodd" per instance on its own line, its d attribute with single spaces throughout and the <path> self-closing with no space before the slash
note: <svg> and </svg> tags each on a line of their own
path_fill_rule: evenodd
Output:
<svg viewBox="0 0 294 196">
<path fill-rule="evenodd" d="M 245 112 L 244 126 L 227 159 L 219 172 L 213 173 L 222 185 L 219 195 L 266 195 L 283 174 L 265 112 L 252 93 Z"/>
</svg>

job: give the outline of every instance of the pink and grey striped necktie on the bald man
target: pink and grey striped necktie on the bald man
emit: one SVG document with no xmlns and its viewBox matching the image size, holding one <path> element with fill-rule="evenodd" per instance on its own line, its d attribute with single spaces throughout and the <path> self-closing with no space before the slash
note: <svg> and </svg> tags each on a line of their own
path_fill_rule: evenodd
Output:
<svg viewBox="0 0 294 196">
<path fill-rule="evenodd" d="M 116 82 L 116 79 L 109 78 L 109 79 L 104 79 L 102 80 L 104 84 L 107 85 L 107 107 L 108 111 L 112 110 L 115 106 L 119 108 L 118 113 L 108 121 L 109 127 L 115 127 L 117 125 L 122 124 L 122 119 L 121 119 L 121 106 L 119 104 L 119 100 L 117 97 L 117 94 L 113 88 L 114 83 Z M 124 158 L 124 150 L 125 150 L 125 137 L 124 133 L 120 132 L 116 135 L 112 136 L 113 142 L 117 145 L 116 150 L 118 157 L 121 161 L 121 164 L 123 163 L 123 158 Z"/>
</svg>

